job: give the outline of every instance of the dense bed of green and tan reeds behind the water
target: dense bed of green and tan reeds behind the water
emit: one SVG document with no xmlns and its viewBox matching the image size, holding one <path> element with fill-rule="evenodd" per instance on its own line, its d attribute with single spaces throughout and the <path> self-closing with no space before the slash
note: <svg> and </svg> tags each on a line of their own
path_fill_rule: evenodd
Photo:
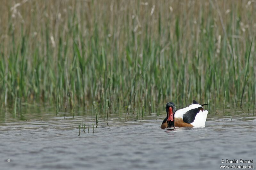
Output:
<svg viewBox="0 0 256 170">
<path fill-rule="evenodd" d="M 255 9 L 254 1 L 3 0 L 1 105 L 139 119 L 169 101 L 254 106 Z"/>
</svg>

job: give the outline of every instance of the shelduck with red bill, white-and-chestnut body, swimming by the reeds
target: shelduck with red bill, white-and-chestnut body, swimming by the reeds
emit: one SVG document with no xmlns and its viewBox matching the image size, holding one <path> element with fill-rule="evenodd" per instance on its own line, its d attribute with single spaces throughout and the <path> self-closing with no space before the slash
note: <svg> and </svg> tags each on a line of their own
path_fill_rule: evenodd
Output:
<svg viewBox="0 0 256 170">
<path fill-rule="evenodd" d="M 208 104 L 199 104 L 196 100 L 188 107 L 176 111 L 175 104 L 166 103 L 165 117 L 161 129 L 174 129 L 175 127 L 204 127 L 208 110 L 204 110 L 203 106 Z M 175 121 L 174 121 L 175 120 Z"/>
</svg>

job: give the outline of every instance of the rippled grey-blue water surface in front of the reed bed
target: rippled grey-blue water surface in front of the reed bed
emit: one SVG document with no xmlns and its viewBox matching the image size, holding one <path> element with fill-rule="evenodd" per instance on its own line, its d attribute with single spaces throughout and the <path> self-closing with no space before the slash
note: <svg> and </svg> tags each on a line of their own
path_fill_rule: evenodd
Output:
<svg viewBox="0 0 256 170">
<path fill-rule="evenodd" d="M 94 133 L 95 119 L 85 116 L 9 123 L 5 119 L 0 123 L 0 166 L 1 169 L 220 169 L 221 159 L 256 161 L 256 117 L 252 114 L 210 113 L 206 127 L 174 131 L 160 129 L 164 116 L 157 120 L 148 116 L 143 121 L 111 118 L 108 125 L 100 119 Z M 81 128 L 78 136 L 78 124 L 84 120 L 85 132 Z"/>
</svg>

